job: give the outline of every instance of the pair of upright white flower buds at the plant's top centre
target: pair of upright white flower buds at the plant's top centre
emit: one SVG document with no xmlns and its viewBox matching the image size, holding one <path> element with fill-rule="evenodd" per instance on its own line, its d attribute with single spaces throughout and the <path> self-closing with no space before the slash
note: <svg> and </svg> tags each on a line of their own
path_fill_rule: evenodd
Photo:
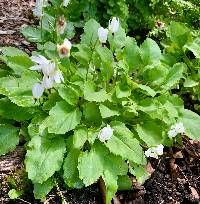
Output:
<svg viewBox="0 0 200 204">
<path fill-rule="evenodd" d="M 111 20 L 109 20 L 108 29 L 103 27 L 100 27 L 98 29 L 99 41 L 101 43 L 106 43 L 108 38 L 108 32 L 110 31 L 111 33 L 116 33 L 118 29 L 119 29 L 119 19 L 117 19 L 116 17 L 113 17 Z"/>
</svg>

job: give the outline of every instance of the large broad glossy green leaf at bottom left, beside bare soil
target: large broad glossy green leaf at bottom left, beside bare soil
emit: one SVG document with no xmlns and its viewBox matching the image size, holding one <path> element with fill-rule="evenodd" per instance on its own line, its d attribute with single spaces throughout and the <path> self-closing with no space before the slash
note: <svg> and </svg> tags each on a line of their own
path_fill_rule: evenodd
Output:
<svg viewBox="0 0 200 204">
<path fill-rule="evenodd" d="M 28 178 L 33 183 L 42 184 L 60 170 L 64 153 L 65 141 L 62 137 L 33 137 L 28 144 L 25 159 Z"/>
</svg>

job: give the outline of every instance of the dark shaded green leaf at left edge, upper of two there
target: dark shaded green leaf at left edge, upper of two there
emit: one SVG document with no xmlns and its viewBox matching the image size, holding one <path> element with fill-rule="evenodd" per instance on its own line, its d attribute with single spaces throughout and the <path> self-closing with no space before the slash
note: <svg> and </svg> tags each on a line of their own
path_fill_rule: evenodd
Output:
<svg viewBox="0 0 200 204">
<path fill-rule="evenodd" d="M 12 103 L 8 98 L 0 99 L 0 104 L 0 116 L 16 121 L 29 120 L 38 111 L 38 109 L 32 107 L 19 107 Z"/>
</svg>

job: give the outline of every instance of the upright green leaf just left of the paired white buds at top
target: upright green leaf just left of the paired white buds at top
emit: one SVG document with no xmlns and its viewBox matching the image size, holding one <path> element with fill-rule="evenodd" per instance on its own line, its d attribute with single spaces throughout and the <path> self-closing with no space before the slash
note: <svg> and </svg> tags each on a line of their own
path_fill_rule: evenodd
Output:
<svg viewBox="0 0 200 204">
<path fill-rule="evenodd" d="M 94 47 L 98 40 L 98 28 L 100 27 L 100 24 L 94 19 L 89 20 L 84 26 L 84 34 L 81 35 L 81 44 Z"/>
</svg>

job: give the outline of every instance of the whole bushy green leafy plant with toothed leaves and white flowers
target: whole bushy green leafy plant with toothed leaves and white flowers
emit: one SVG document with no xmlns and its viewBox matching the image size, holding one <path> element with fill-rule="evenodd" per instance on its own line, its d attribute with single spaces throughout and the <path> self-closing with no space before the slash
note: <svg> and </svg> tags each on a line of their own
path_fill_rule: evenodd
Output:
<svg viewBox="0 0 200 204">
<path fill-rule="evenodd" d="M 150 38 L 138 46 L 121 26 L 105 32 L 101 43 L 94 19 L 71 46 L 57 29 L 65 25 L 58 23 L 64 8 L 52 3 L 39 28 L 22 31 L 37 42 L 31 57 L 1 48 L 0 154 L 14 150 L 23 136 L 35 198 L 46 196 L 58 172 L 70 188 L 103 179 L 109 203 L 122 181 L 130 187 L 128 175 L 140 183 L 148 178 L 146 157 L 162 155 L 163 145 L 181 145 L 183 133 L 199 139 L 200 116 L 173 94 L 188 64 L 167 60 Z M 182 37 L 171 39 L 183 45 Z"/>
</svg>

